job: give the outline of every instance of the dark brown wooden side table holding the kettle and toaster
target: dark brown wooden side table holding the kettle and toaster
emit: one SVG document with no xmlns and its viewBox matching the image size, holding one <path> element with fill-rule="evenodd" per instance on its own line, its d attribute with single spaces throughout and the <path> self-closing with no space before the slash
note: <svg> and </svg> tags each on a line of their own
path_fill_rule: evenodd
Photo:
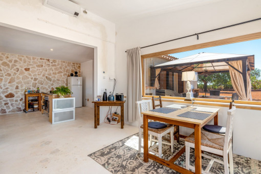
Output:
<svg viewBox="0 0 261 174">
<path fill-rule="evenodd" d="M 124 126 L 124 103 L 126 101 L 93 101 L 94 103 L 94 128 L 100 125 L 100 106 L 121 106 L 121 128 Z"/>
</svg>

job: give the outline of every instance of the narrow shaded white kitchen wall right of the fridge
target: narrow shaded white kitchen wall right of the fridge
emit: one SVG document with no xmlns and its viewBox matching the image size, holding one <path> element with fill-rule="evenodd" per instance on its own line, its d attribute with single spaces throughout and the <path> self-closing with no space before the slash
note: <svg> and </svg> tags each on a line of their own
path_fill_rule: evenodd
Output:
<svg viewBox="0 0 261 174">
<path fill-rule="evenodd" d="M 82 76 L 82 104 L 83 106 L 94 107 L 94 60 L 81 63 Z"/>
</svg>

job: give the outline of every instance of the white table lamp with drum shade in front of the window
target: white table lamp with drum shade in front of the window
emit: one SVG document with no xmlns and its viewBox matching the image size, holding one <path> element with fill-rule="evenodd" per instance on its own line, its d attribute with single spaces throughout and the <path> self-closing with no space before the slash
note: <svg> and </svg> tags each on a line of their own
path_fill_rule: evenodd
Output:
<svg viewBox="0 0 261 174">
<path fill-rule="evenodd" d="M 191 94 L 190 94 L 190 88 L 191 84 L 190 81 L 197 81 L 198 75 L 194 71 L 185 71 L 182 72 L 182 81 L 187 81 L 186 88 L 187 88 L 187 94 L 185 100 L 191 101 Z"/>
</svg>

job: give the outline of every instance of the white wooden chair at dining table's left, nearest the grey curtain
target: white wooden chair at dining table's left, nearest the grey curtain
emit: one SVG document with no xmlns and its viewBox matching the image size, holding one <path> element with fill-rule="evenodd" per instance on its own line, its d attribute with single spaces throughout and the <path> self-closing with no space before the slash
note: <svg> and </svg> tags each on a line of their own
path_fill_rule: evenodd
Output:
<svg viewBox="0 0 261 174">
<path fill-rule="evenodd" d="M 141 114 L 141 112 L 152 110 L 152 104 L 151 104 L 151 100 L 136 101 L 136 103 L 137 103 L 138 112 L 139 112 L 138 113 L 138 115 L 139 115 L 139 153 L 141 153 L 141 148 L 143 148 L 143 145 L 141 144 L 141 138 L 142 138 L 142 133 L 143 133 L 143 115 Z M 162 137 L 168 133 L 170 133 L 170 136 L 171 136 L 170 143 L 162 141 Z M 148 149 L 148 151 L 158 155 L 159 158 L 162 158 L 162 143 L 163 143 L 163 144 L 170 145 L 171 153 L 173 153 L 173 141 L 174 141 L 173 133 L 174 133 L 174 127 L 172 124 L 167 124 L 167 127 L 161 128 L 161 129 L 148 127 L 149 144 L 151 146 Z M 158 137 L 158 140 L 153 139 L 152 136 Z M 143 140 L 143 141 L 148 141 L 148 140 Z M 158 145 L 155 143 L 152 146 L 152 141 L 158 142 Z M 153 150 L 157 146 L 159 146 L 159 152 Z"/>
</svg>

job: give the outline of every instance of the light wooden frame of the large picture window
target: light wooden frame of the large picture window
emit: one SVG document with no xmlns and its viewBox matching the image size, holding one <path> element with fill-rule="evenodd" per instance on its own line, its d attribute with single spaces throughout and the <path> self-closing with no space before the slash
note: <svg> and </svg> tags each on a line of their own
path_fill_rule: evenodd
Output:
<svg viewBox="0 0 261 174">
<path fill-rule="evenodd" d="M 261 32 L 258 32 L 258 33 L 252 33 L 252 34 L 246 34 L 246 35 L 242 35 L 242 36 L 236 36 L 236 37 L 221 39 L 221 40 L 205 42 L 203 44 L 197 44 L 197 45 L 192 45 L 192 46 L 186 46 L 186 47 L 181 47 L 181 48 L 176 48 L 176 49 L 171 49 L 171 50 L 141 55 L 142 97 L 149 97 L 149 98 L 152 97 L 152 96 L 149 96 L 149 95 L 145 95 L 144 59 L 155 57 L 155 56 L 160 56 L 160 55 L 164 55 L 164 54 L 174 54 L 174 53 L 180 53 L 180 52 L 185 52 L 185 51 L 191 51 L 191 50 L 197 50 L 197 49 L 203 49 L 203 48 L 209 48 L 209 47 L 215 47 L 215 46 L 222 46 L 222 45 L 227 45 L 227 44 L 234 44 L 234 43 L 237 43 L 237 42 L 255 40 L 255 39 L 260 39 L 260 38 L 261 38 Z M 176 99 L 176 100 L 180 100 L 179 102 L 182 102 L 182 103 L 184 103 L 184 99 L 185 99 L 185 97 L 164 97 L 164 96 L 162 96 L 162 98 L 165 99 L 165 100 Z M 171 100 L 169 100 L 169 101 L 171 101 Z M 195 101 L 229 103 L 231 100 L 195 98 Z M 187 101 L 185 103 L 187 103 Z M 202 103 L 202 104 L 204 104 L 204 103 Z M 248 104 L 248 105 L 260 105 L 261 106 L 260 101 L 236 100 L 235 104 Z M 208 103 L 207 105 L 216 105 L 216 104 L 214 104 L 214 103 L 209 104 Z M 222 104 L 220 104 L 220 105 L 222 105 Z M 223 106 L 224 106 L 224 104 L 223 104 Z M 246 105 L 245 106 L 239 106 L 239 107 L 240 108 L 253 109 L 253 110 L 261 110 L 261 107 L 252 107 L 252 106 L 246 106 Z"/>
</svg>

